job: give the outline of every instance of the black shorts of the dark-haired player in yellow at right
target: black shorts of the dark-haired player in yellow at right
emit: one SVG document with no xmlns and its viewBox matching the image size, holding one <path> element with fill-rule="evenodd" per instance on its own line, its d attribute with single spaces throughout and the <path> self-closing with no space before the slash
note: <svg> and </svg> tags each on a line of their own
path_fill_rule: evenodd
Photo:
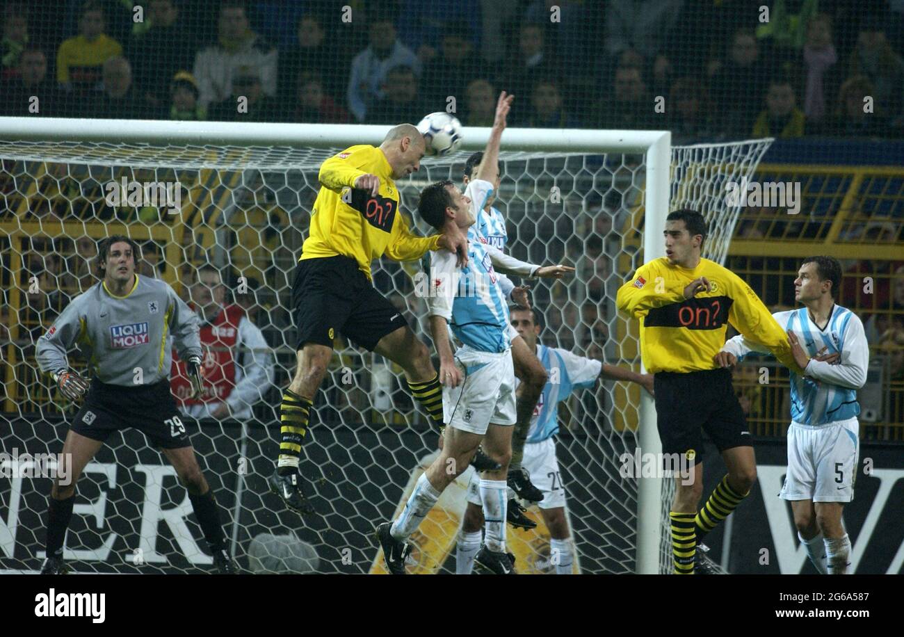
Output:
<svg viewBox="0 0 904 637">
<path fill-rule="evenodd" d="M 720 452 L 753 446 L 747 419 L 731 386 L 730 370 L 661 371 L 653 377 L 653 389 L 656 428 L 664 454 L 687 455 L 694 464 L 702 462 L 702 429 Z"/>
</svg>

